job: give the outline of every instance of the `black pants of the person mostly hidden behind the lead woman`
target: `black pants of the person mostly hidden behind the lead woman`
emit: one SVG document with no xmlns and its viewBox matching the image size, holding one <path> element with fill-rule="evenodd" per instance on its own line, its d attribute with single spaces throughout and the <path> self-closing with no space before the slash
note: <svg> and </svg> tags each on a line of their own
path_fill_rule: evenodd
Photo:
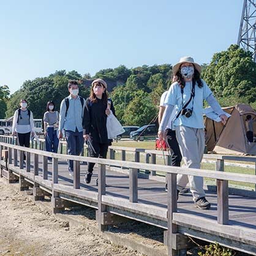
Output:
<svg viewBox="0 0 256 256">
<path fill-rule="evenodd" d="M 176 139 L 175 130 L 167 129 L 167 140 L 171 149 L 171 166 L 181 166 L 181 151 L 179 150 L 179 144 Z"/>
</svg>

